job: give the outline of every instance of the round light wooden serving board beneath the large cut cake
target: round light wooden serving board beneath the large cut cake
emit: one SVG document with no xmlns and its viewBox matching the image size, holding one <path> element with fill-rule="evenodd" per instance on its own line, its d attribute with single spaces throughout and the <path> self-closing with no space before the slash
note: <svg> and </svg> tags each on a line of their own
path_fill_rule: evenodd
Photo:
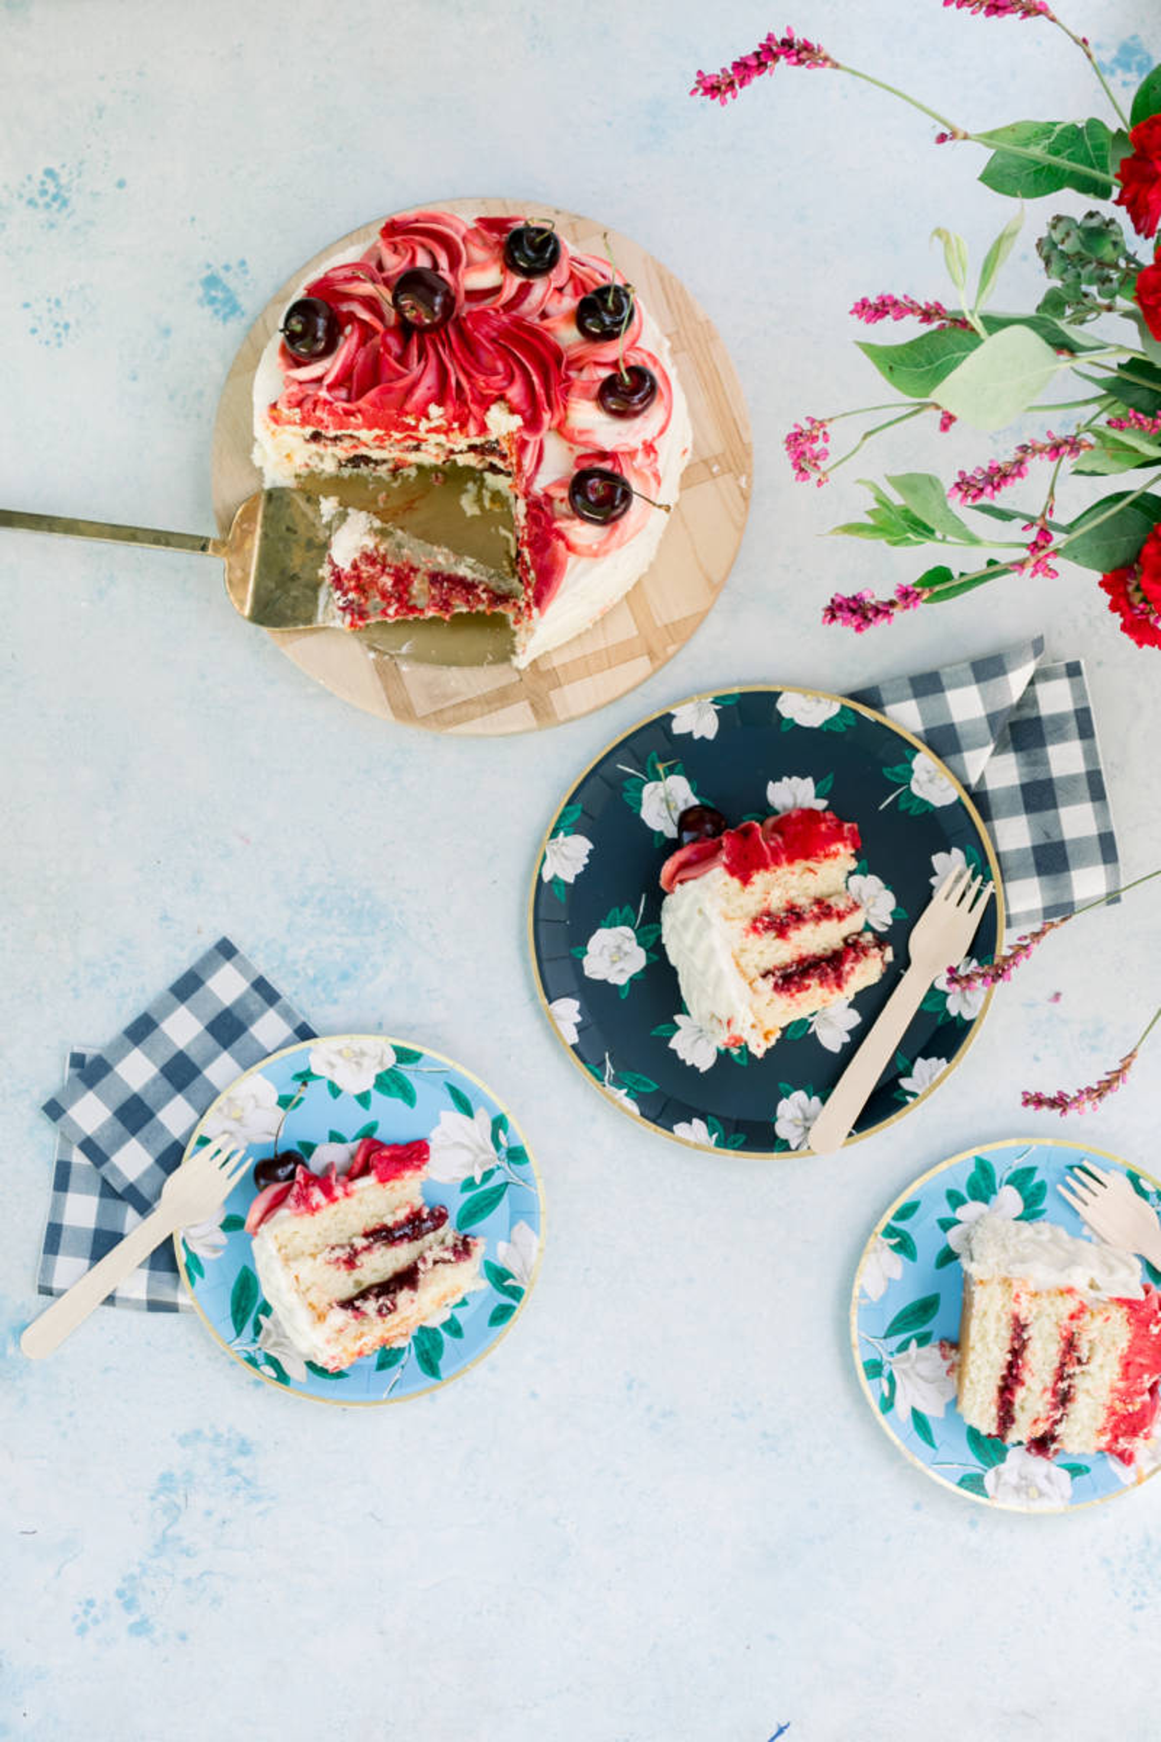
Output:
<svg viewBox="0 0 1161 1742">
<path fill-rule="evenodd" d="M 576 719 L 644 683 L 689 639 L 714 604 L 742 542 L 752 446 L 742 385 L 714 324 L 684 286 L 625 235 L 590 218 L 515 200 L 440 200 L 428 207 L 472 218 L 552 218 L 581 253 L 607 254 L 674 347 L 689 402 L 693 451 L 653 566 L 583 636 L 526 671 L 507 664 L 418 664 L 381 653 L 341 629 L 266 631 L 305 672 L 355 707 L 430 732 L 533 732 Z M 298 287 L 334 254 L 367 247 L 383 219 L 329 242 L 266 303 L 223 387 L 214 425 L 214 514 L 225 535 L 240 502 L 261 488 L 251 460 L 252 380 L 270 334 Z"/>
</svg>

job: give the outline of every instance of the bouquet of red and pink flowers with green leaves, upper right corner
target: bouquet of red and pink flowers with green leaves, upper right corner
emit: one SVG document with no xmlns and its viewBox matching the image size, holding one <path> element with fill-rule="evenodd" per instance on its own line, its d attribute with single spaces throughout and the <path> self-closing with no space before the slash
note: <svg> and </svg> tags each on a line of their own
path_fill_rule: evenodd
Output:
<svg viewBox="0 0 1161 1742">
<path fill-rule="evenodd" d="M 1020 232 L 1023 206 L 970 272 L 968 244 L 936 230 L 956 289 L 954 307 L 907 294 L 860 298 L 851 314 L 867 326 L 914 321 L 923 331 L 903 343 L 860 343 L 888 387 L 903 401 L 809 416 L 787 436 L 787 455 L 802 483 L 825 484 L 839 465 L 881 430 L 929 416 L 940 430 L 952 423 L 996 432 L 1025 413 L 1069 429 L 1018 442 L 1004 460 L 961 470 L 950 486 L 933 472 L 902 472 L 870 483 L 863 519 L 836 531 L 902 547 L 940 547 L 893 598 L 869 591 L 836 594 L 823 622 L 862 632 L 919 604 L 957 599 L 1001 575 L 1057 578 L 1060 557 L 1100 575 L 1109 608 L 1137 646 L 1161 648 L 1161 258 L 1151 258 L 1161 223 L 1161 66 L 1154 66 L 1121 110 L 1084 37 L 1076 35 L 1046 0 L 943 0 L 945 7 L 994 19 L 1025 19 L 1062 30 L 1093 68 L 1112 117 L 1102 120 L 1020 120 L 971 132 L 907 92 L 789 30 L 773 33 L 752 54 L 719 73 L 698 73 L 693 92 L 729 103 L 778 66 L 829 70 L 889 91 L 938 125 L 936 145 L 971 141 L 989 157 L 980 181 L 1020 202 L 1070 188 L 1093 200 L 1083 218 L 1048 219 L 1036 249 L 1048 286 L 1029 314 L 996 314 L 992 293 Z M 1126 235 L 1116 207 L 1135 232 Z M 1147 246 L 1149 244 L 1149 246 Z M 975 282 L 973 282 L 975 280 Z M 1117 322 L 1114 326 L 1114 322 Z M 1064 378 L 1070 397 L 1050 394 Z M 884 422 L 870 422 L 891 411 Z M 865 418 L 848 453 L 830 453 L 832 425 Z M 1057 509 L 1062 470 L 1123 477 L 1070 519 Z M 1008 496 L 1032 472 L 1044 470 L 1043 493 L 1029 507 Z M 950 564 L 966 563 L 966 568 Z"/>
</svg>

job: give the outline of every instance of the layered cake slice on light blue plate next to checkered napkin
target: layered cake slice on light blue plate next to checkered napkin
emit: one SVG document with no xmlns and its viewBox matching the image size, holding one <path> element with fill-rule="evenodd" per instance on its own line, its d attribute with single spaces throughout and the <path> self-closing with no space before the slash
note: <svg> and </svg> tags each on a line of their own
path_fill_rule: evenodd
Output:
<svg viewBox="0 0 1161 1742">
<path fill-rule="evenodd" d="M 329 1373 L 406 1343 L 482 1287 L 484 1240 L 456 1233 L 446 1205 L 423 1200 L 428 1160 L 426 1139 L 364 1138 L 346 1174 L 299 1167 L 251 1204 L 263 1294 L 299 1354 Z"/>
</svg>

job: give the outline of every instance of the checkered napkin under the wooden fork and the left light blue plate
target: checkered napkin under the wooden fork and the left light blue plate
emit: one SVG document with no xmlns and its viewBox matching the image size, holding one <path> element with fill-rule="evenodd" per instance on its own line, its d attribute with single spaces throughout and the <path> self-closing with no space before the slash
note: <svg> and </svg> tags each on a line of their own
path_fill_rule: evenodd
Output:
<svg viewBox="0 0 1161 1742">
<path fill-rule="evenodd" d="M 235 1077 L 313 1033 L 219 937 L 106 1047 L 75 1047 L 64 1087 L 44 1104 L 57 1144 L 40 1293 L 63 1294 L 153 1209 L 195 1124 Z M 157 1312 L 188 1305 L 169 1240 L 110 1303 Z"/>
</svg>

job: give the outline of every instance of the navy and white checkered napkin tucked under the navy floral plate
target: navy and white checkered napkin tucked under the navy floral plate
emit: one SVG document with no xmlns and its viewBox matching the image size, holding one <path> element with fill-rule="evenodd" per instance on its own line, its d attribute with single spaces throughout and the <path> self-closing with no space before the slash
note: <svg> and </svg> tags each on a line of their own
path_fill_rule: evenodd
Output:
<svg viewBox="0 0 1161 1742">
<path fill-rule="evenodd" d="M 996 847 L 1013 932 L 1121 881 L 1081 660 L 1043 665 L 1043 639 L 858 690 L 921 737 L 971 793 Z"/>
</svg>

